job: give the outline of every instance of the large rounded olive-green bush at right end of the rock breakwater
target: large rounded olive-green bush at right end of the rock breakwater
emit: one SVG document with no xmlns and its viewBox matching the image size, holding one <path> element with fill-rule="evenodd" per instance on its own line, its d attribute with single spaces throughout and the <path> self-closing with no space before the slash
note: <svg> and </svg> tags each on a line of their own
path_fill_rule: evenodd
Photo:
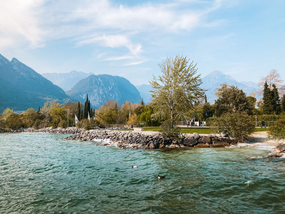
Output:
<svg viewBox="0 0 285 214">
<path fill-rule="evenodd" d="M 210 129 L 214 134 L 226 130 L 236 139 L 246 141 L 255 131 L 255 121 L 245 113 L 226 113 L 220 117 L 214 117 Z"/>
</svg>

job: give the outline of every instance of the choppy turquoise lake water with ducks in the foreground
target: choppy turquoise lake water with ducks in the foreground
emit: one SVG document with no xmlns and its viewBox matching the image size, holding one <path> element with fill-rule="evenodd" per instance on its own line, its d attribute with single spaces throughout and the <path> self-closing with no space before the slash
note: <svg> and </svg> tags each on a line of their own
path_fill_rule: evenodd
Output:
<svg viewBox="0 0 285 214">
<path fill-rule="evenodd" d="M 66 136 L 0 135 L 0 213 L 285 212 L 273 146 L 122 150 Z"/>
</svg>

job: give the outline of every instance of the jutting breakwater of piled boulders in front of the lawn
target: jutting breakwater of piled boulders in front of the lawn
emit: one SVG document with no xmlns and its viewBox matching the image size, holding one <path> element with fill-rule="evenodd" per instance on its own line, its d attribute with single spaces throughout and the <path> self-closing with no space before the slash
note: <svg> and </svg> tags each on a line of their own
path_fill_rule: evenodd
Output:
<svg viewBox="0 0 285 214">
<path fill-rule="evenodd" d="M 199 135 L 185 134 L 181 140 L 172 140 L 163 138 L 159 132 L 133 132 L 133 131 L 115 131 L 115 130 L 87 130 L 78 132 L 73 136 L 66 137 L 66 140 L 95 141 L 96 145 L 115 145 L 119 148 L 173 148 L 173 147 L 222 147 L 236 145 L 241 141 L 222 134 Z M 100 140 L 98 142 L 98 140 Z"/>
</svg>

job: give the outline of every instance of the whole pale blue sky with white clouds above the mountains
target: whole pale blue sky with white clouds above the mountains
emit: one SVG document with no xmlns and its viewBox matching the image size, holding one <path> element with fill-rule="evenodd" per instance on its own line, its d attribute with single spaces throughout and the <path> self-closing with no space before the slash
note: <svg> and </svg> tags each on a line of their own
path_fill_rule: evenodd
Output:
<svg viewBox="0 0 285 214">
<path fill-rule="evenodd" d="M 285 1 L 0 0 L 0 54 L 36 72 L 111 74 L 135 86 L 180 54 L 197 74 L 285 79 Z"/>
</svg>

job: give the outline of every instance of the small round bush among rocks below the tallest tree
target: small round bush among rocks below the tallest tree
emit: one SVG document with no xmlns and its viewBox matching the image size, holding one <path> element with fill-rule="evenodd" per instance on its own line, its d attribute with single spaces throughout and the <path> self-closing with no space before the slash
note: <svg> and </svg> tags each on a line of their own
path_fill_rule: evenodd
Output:
<svg viewBox="0 0 285 214">
<path fill-rule="evenodd" d="M 177 122 L 172 119 L 168 119 L 162 122 L 161 129 L 159 131 L 164 138 L 173 138 L 178 140 L 180 130 L 180 127 L 177 126 Z"/>
</svg>

